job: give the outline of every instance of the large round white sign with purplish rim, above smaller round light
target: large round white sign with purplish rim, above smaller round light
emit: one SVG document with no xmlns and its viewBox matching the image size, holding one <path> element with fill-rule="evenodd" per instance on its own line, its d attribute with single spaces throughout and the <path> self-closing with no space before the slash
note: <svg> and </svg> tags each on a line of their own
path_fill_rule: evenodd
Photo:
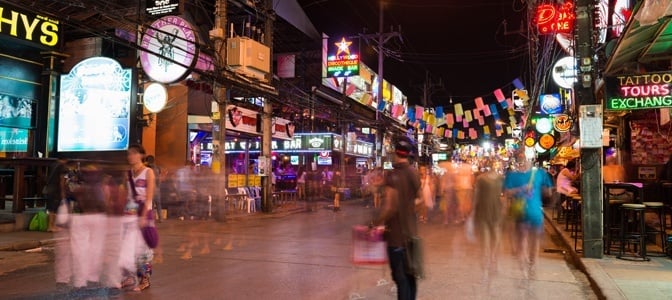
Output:
<svg viewBox="0 0 672 300">
<path fill-rule="evenodd" d="M 160 83 L 182 80 L 196 62 L 196 34 L 177 16 L 162 17 L 147 28 L 140 47 L 142 69 Z"/>
</svg>

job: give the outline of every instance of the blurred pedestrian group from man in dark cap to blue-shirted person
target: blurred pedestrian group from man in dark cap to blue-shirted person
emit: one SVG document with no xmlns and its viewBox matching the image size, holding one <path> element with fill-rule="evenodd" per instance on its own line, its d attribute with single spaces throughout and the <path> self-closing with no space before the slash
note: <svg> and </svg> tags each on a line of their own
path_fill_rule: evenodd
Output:
<svg viewBox="0 0 672 300">
<path fill-rule="evenodd" d="M 381 212 L 372 226 L 386 228 L 388 261 L 398 299 L 416 297 L 416 280 L 422 272 L 414 266 L 416 250 L 411 241 L 418 234 L 417 223 L 433 218 L 438 218 L 433 223 L 473 228 L 473 232 L 465 233 L 475 235 L 474 239 L 482 243 L 486 281 L 497 273 L 503 223 L 511 218 L 513 254 L 519 259 L 524 278 L 536 276 L 543 233 L 542 199 L 550 197 L 555 186 L 548 170 L 535 167 L 523 151 L 511 151 L 504 161 L 442 162 L 437 172 L 424 165 L 413 167 L 412 149 L 408 138 L 399 138 L 395 142 L 394 169 L 385 171 L 382 180 L 370 187 L 380 191 Z"/>
</svg>

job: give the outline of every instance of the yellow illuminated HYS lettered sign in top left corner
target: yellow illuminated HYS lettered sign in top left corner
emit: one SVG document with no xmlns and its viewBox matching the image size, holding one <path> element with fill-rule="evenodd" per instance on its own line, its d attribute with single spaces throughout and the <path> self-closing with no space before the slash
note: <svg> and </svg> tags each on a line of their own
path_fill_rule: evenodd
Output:
<svg viewBox="0 0 672 300">
<path fill-rule="evenodd" d="M 0 5 L 0 34 L 38 45 L 60 46 L 60 22 L 47 16 Z"/>
</svg>

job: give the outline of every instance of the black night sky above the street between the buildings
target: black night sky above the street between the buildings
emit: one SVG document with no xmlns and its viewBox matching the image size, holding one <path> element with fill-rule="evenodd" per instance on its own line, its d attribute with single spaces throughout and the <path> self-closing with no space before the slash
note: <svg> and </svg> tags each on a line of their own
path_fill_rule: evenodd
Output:
<svg viewBox="0 0 672 300">
<path fill-rule="evenodd" d="M 394 0 L 386 2 L 385 31 L 401 26 L 403 42 L 385 46 L 385 79 L 420 104 L 426 72 L 435 88 L 429 105 L 449 105 L 491 95 L 516 77 L 528 61 L 527 7 L 521 0 Z M 318 31 L 329 36 L 378 32 L 378 0 L 299 0 Z M 506 25 L 505 25 L 506 24 Z M 521 34 L 521 27 L 523 34 Z M 362 60 L 377 71 L 377 54 L 362 42 Z"/>
</svg>

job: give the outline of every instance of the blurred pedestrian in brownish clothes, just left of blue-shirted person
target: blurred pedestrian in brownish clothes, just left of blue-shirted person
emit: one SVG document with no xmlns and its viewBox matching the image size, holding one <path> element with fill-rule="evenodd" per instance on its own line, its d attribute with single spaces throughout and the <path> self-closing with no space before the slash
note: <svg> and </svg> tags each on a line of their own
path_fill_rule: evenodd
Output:
<svg viewBox="0 0 672 300">
<path fill-rule="evenodd" d="M 476 178 L 474 189 L 473 221 L 483 247 L 483 275 L 487 280 L 497 273 L 497 253 L 501 240 L 503 205 L 501 201 L 503 178 L 496 170 Z"/>
</svg>

